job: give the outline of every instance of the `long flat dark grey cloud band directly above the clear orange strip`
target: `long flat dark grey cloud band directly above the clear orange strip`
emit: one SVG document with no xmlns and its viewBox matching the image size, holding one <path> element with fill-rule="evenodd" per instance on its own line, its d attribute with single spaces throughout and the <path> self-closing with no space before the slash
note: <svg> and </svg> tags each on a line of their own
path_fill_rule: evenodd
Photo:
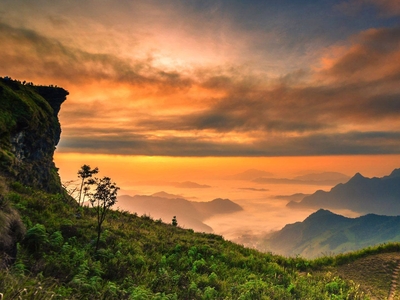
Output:
<svg viewBox="0 0 400 300">
<path fill-rule="evenodd" d="M 67 137 L 61 141 L 59 151 L 151 156 L 307 156 L 398 154 L 399 147 L 400 132 L 349 132 L 275 138 L 245 145 L 196 138 Z"/>
</svg>

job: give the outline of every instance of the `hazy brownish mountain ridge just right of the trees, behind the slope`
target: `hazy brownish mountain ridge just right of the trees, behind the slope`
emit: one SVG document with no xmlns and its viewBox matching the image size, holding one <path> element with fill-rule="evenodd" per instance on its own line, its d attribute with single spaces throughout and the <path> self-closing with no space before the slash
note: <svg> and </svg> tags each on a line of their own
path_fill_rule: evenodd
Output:
<svg viewBox="0 0 400 300">
<path fill-rule="evenodd" d="M 200 232 L 212 232 L 213 229 L 203 221 L 217 214 L 227 214 L 243 210 L 229 199 L 214 199 L 209 202 L 194 202 L 179 195 L 158 192 L 151 196 L 119 196 L 116 208 L 140 215 L 148 215 L 153 219 L 162 219 L 170 223 L 176 216 L 178 225 Z"/>
</svg>

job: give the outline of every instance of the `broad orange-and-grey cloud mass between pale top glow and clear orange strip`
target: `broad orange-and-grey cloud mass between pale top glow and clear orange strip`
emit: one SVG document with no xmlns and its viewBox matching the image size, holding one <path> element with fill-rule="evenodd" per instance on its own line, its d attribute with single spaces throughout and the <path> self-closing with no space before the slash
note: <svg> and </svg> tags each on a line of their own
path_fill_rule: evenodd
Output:
<svg viewBox="0 0 400 300">
<path fill-rule="evenodd" d="M 0 65 L 11 72 L 3 75 L 129 90 L 122 100 L 119 94 L 105 95 L 107 100 L 89 99 L 85 106 L 65 110 L 60 152 L 400 153 L 400 27 L 361 32 L 326 66 L 283 74 L 279 80 L 233 63 L 167 70 L 151 56 L 129 60 L 92 53 L 5 23 L 0 23 L 0 44 Z M 153 97 L 145 105 L 140 104 L 145 97 L 135 96 L 139 90 Z"/>
</svg>

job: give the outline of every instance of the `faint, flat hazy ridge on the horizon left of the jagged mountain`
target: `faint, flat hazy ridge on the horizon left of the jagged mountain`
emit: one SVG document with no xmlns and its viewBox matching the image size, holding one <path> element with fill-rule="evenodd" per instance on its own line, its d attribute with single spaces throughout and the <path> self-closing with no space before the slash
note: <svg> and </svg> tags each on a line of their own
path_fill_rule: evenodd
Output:
<svg viewBox="0 0 400 300">
<path fill-rule="evenodd" d="M 309 184 L 309 185 L 335 185 L 349 180 L 349 176 L 338 172 L 312 173 L 294 178 L 259 177 L 252 181 L 256 183 L 272 184 Z"/>
</svg>

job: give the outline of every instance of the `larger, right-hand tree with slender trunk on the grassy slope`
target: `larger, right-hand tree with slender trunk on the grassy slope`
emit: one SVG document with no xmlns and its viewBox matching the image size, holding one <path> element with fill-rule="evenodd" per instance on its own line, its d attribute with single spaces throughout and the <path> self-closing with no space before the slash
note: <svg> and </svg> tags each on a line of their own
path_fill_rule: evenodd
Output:
<svg viewBox="0 0 400 300">
<path fill-rule="evenodd" d="M 110 177 L 103 177 L 102 179 L 95 178 L 93 179 L 93 183 L 96 187 L 94 193 L 90 194 L 89 199 L 97 214 L 97 251 L 99 249 L 101 226 L 103 225 L 108 210 L 117 202 L 119 187 L 114 182 L 111 182 Z"/>
</svg>

